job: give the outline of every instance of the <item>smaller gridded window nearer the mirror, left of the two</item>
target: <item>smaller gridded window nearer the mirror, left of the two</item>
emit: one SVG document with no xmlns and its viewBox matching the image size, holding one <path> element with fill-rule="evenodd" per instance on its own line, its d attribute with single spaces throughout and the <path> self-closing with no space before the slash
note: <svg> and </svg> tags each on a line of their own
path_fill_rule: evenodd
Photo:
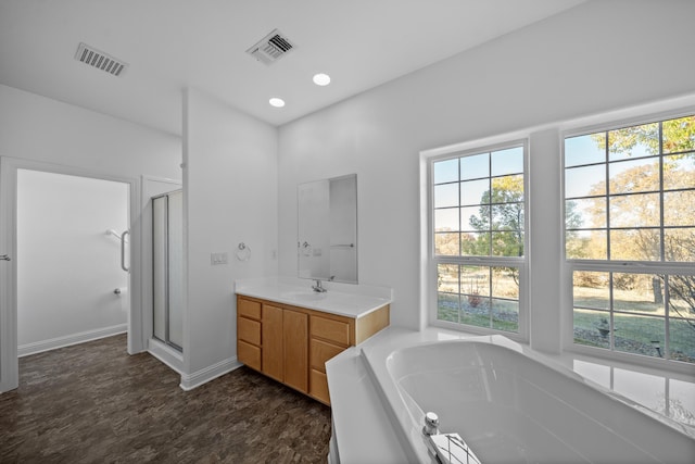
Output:
<svg viewBox="0 0 695 464">
<path fill-rule="evenodd" d="M 525 162 L 523 143 L 432 161 L 432 268 L 441 325 L 520 331 Z"/>
</svg>

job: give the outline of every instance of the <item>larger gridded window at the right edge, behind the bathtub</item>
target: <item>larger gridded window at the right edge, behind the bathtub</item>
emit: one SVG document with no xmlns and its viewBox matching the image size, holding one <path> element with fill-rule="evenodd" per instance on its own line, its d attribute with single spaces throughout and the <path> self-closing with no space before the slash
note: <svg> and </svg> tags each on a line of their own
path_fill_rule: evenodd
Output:
<svg viewBox="0 0 695 464">
<path fill-rule="evenodd" d="M 565 138 L 576 344 L 695 363 L 695 116 Z"/>
</svg>

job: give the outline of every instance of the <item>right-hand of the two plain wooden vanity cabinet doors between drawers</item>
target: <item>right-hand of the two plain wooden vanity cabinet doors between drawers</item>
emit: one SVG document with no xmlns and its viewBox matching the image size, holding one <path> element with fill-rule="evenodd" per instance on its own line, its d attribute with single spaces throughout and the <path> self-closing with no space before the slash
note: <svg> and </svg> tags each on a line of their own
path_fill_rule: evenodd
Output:
<svg viewBox="0 0 695 464">
<path fill-rule="evenodd" d="M 308 391 L 308 316 L 285 310 L 285 384 Z M 264 353 L 265 354 L 265 353 Z"/>
</svg>

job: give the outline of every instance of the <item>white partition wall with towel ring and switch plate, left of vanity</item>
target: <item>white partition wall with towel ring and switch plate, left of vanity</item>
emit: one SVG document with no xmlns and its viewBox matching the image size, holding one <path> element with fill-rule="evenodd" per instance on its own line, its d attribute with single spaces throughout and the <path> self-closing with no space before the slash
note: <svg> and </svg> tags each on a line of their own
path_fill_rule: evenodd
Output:
<svg viewBox="0 0 695 464">
<path fill-rule="evenodd" d="M 191 388 L 236 362 L 233 280 L 277 274 L 277 129 L 195 89 L 184 106 L 181 385 Z M 249 261 L 236 258 L 240 242 Z M 228 263 L 211 265 L 213 252 L 228 253 Z"/>
</svg>

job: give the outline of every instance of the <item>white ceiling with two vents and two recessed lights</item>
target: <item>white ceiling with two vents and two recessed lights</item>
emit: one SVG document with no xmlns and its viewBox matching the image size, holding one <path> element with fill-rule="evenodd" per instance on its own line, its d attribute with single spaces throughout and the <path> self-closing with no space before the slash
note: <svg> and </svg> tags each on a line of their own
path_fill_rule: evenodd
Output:
<svg viewBox="0 0 695 464">
<path fill-rule="evenodd" d="M 0 0 L 0 83 L 173 134 L 190 86 L 279 126 L 582 1 Z M 290 53 L 245 53 L 275 28 Z M 80 63 L 80 42 L 127 70 Z"/>
</svg>

